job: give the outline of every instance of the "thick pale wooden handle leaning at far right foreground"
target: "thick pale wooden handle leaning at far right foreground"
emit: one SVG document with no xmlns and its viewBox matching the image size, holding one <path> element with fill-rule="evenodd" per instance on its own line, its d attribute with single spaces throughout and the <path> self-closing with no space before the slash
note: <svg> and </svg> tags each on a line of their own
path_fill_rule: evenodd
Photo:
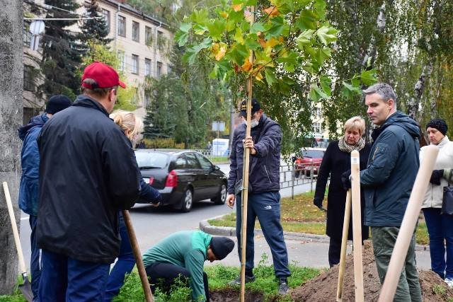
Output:
<svg viewBox="0 0 453 302">
<path fill-rule="evenodd" d="M 415 224 L 420 214 L 423 197 L 425 197 L 432 168 L 434 168 L 437 153 L 439 153 L 437 146 L 426 146 L 425 148 L 423 161 L 420 163 L 420 169 L 412 187 L 411 197 L 409 197 L 408 207 L 404 213 L 403 222 L 396 238 L 395 248 L 391 253 L 389 268 L 384 279 L 379 302 L 394 300 L 398 279 L 401 276 L 401 269 L 403 269 L 403 263 L 408 253 Z"/>
</svg>

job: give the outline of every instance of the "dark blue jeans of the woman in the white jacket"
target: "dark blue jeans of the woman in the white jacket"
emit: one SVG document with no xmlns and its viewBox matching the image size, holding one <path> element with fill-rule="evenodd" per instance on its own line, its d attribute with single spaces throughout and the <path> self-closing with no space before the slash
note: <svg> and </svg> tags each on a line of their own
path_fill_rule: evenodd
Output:
<svg viewBox="0 0 453 302">
<path fill-rule="evenodd" d="M 431 269 L 442 279 L 453 279 L 453 216 L 441 215 L 436 208 L 423 209 L 423 215 L 430 235 Z"/>
</svg>

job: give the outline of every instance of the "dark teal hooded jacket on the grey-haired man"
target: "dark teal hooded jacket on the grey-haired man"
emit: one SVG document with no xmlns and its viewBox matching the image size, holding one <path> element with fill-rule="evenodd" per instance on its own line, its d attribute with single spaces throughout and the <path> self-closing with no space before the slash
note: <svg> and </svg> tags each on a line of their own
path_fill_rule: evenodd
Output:
<svg viewBox="0 0 453 302">
<path fill-rule="evenodd" d="M 367 168 L 360 171 L 365 191 L 365 225 L 401 226 L 420 165 L 420 129 L 397 111 L 375 129 Z"/>
</svg>

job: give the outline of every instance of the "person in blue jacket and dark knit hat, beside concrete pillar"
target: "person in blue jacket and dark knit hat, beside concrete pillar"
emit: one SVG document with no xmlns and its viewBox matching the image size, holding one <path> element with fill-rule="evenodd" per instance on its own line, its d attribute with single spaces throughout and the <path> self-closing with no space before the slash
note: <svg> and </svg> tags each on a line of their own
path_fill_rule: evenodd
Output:
<svg viewBox="0 0 453 302">
<path fill-rule="evenodd" d="M 55 113 L 71 106 L 71 100 L 66 95 L 53 95 L 46 104 L 45 112 L 30 119 L 28 124 L 18 129 L 19 138 L 23 141 L 21 152 L 22 175 L 19 187 L 19 208 L 29 215 L 30 222 L 30 271 L 31 289 L 34 298 L 38 297 L 38 285 L 40 284 L 40 250 L 36 246 L 36 219 L 38 218 L 39 196 L 39 168 L 40 152 L 36 139 L 45 122 L 52 118 Z"/>
</svg>

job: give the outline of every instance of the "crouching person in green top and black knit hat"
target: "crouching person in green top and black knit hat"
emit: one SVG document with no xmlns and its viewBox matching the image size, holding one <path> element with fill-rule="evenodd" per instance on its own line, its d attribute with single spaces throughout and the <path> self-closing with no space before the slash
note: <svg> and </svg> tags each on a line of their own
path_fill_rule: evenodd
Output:
<svg viewBox="0 0 453 302">
<path fill-rule="evenodd" d="M 205 260 L 222 260 L 234 248 L 226 237 L 212 237 L 202 231 L 180 231 L 164 238 L 143 255 L 151 289 L 169 291 L 176 279 L 189 280 L 192 301 L 210 301 Z"/>
</svg>

